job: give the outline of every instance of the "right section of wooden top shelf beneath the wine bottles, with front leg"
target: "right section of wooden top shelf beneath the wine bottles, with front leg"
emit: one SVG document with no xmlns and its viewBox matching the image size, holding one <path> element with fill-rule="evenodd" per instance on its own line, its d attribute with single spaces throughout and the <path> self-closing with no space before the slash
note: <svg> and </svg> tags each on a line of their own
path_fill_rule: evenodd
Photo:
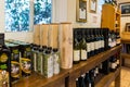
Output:
<svg viewBox="0 0 130 87">
<path fill-rule="evenodd" d="M 105 52 L 99 53 L 94 57 L 91 57 L 87 61 L 80 62 L 79 64 L 75 64 L 73 69 L 69 70 L 69 86 L 76 87 L 75 80 L 77 77 L 92 70 L 101 62 L 107 60 L 109 57 L 114 55 L 117 51 L 121 49 L 121 46 L 114 47 Z"/>
</svg>

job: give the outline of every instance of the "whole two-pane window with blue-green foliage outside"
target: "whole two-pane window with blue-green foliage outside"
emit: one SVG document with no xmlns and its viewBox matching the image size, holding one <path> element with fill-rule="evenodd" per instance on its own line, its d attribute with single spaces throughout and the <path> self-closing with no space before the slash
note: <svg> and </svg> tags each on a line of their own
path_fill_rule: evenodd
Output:
<svg viewBox="0 0 130 87">
<path fill-rule="evenodd" d="M 51 0 L 5 0 L 5 32 L 28 32 L 32 24 L 51 23 Z"/>
</svg>

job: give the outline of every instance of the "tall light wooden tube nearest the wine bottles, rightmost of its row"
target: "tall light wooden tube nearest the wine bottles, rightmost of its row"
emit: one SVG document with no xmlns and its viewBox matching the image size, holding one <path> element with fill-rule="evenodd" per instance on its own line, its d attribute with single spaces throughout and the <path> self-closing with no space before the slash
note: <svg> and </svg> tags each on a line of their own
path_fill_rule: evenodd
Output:
<svg viewBox="0 0 130 87">
<path fill-rule="evenodd" d="M 61 67 L 73 67 L 73 27 L 72 23 L 60 24 Z"/>
</svg>

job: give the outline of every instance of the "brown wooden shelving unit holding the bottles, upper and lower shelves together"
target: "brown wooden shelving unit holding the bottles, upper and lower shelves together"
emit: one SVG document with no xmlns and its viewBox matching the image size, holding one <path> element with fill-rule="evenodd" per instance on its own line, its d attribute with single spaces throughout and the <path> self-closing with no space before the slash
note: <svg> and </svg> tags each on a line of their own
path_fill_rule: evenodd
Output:
<svg viewBox="0 0 130 87">
<path fill-rule="evenodd" d="M 87 61 L 74 64 L 69 70 L 62 70 L 58 75 L 54 75 L 51 78 L 44 78 L 34 73 L 31 76 L 13 84 L 13 87 L 76 87 L 77 77 L 107 60 L 109 57 L 120 51 L 120 49 L 121 46 L 116 46 L 105 52 L 91 57 Z M 113 80 L 115 80 L 116 87 L 120 87 L 120 67 L 116 72 L 105 75 L 95 87 L 107 87 Z"/>
</svg>

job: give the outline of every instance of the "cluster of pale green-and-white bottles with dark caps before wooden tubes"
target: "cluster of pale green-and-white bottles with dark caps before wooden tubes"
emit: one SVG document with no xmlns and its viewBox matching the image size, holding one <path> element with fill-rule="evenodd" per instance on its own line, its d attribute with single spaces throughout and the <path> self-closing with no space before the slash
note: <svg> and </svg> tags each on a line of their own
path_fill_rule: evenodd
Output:
<svg viewBox="0 0 130 87">
<path fill-rule="evenodd" d="M 58 49 L 52 47 L 32 46 L 32 65 L 34 71 L 44 77 L 52 77 L 60 73 L 60 54 Z"/>
</svg>

